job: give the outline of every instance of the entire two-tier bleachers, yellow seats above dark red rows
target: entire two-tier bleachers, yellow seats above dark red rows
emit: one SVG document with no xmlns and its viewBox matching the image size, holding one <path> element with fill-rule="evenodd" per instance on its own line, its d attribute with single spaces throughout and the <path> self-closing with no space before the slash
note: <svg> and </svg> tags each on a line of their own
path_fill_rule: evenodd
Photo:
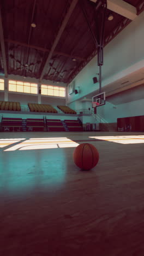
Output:
<svg viewBox="0 0 144 256">
<path fill-rule="evenodd" d="M 67 106 L 57 106 L 53 108 L 49 104 L 37 104 L 37 103 L 28 103 L 28 108 L 30 112 L 45 112 L 50 113 L 51 115 L 54 115 L 56 113 L 59 114 L 61 112 L 63 115 L 63 112 L 65 114 L 76 114 L 76 112 L 73 109 L 70 109 Z M 60 109 L 60 110 L 59 110 Z M 14 110 L 14 111 L 20 111 L 23 110 L 20 106 L 19 102 L 5 102 L 0 101 L 0 110 Z M 26 107 L 25 109 L 26 110 Z M 61 120 L 61 119 L 47 119 L 49 118 L 49 114 L 45 114 L 45 117 L 40 118 L 41 114 L 39 114 L 39 117 L 37 117 L 36 113 L 32 113 L 34 118 L 27 118 L 24 117 L 19 113 L 20 118 L 2 118 L 0 130 L 1 131 L 83 131 L 83 128 L 78 120 Z M 14 114 L 17 116 L 17 113 Z M 13 115 L 13 117 L 14 117 Z M 26 114 L 25 114 L 26 115 Z M 62 118 L 62 117 L 59 117 Z"/>
</svg>

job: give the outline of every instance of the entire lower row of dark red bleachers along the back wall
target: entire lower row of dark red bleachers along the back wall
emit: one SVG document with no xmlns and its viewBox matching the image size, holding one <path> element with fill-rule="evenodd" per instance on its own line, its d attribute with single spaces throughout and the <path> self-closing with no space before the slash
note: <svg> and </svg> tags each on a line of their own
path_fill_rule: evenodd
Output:
<svg viewBox="0 0 144 256">
<path fill-rule="evenodd" d="M 3 131 L 83 131 L 78 120 L 60 119 L 26 119 L 26 130 L 23 130 L 22 118 L 3 118 Z"/>
</svg>

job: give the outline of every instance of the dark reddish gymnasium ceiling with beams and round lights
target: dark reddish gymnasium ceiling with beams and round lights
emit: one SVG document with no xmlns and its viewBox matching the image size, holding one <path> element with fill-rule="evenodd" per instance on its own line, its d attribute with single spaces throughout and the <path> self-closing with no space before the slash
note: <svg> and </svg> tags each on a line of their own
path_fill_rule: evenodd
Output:
<svg viewBox="0 0 144 256">
<path fill-rule="evenodd" d="M 100 14 L 101 5 L 94 10 L 100 1 L 104 0 L 1 0 L 0 74 L 70 83 L 97 54 L 92 33 L 95 36 L 99 27 L 95 15 Z M 133 19 L 114 12 L 109 7 L 112 1 L 107 0 L 104 45 Z M 128 4 L 127 13 L 132 8 L 132 14 L 135 9 L 139 15 L 144 9 L 141 0 L 115 2 Z M 32 23 L 36 26 L 32 27 Z"/>
</svg>

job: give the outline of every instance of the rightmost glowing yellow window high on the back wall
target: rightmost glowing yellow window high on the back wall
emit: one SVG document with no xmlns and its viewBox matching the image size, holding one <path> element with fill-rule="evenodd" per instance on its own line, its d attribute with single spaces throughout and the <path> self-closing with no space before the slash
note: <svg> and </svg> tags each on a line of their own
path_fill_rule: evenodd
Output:
<svg viewBox="0 0 144 256">
<path fill-rule="evenodd" d="M 41 94 L 56 97 L 65 97 L 65 88 L 41 84 Z"/>
</svg>

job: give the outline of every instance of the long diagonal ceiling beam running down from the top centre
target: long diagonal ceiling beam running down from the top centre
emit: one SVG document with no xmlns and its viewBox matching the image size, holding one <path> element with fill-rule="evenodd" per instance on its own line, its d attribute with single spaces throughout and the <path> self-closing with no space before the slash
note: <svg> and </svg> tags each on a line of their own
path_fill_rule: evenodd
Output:
<svg viewBox="0 0 144 256">
<path fill-rule="evenodd" d="M 41 74 L 40 74 L 39 82 L 41 82 L 41 80 L 43 79 L 43 76 L 44 76 L 44 73 L 45 73 L 45 68 L 46 68 L 47 64 L 50 62 L 50 59 L 51 59 L 51 57 L 52 57 L 52 54 L 53 54 L 53 52 L 54 52 L 54 50 L 55 50 L 55 48 L 56 48 L 56 46 L 57 46 L 57 44 L 58 44 L 58 42 L 59 42 L 59 39 L 60 39 L 61 36 L 62 36 L 62 33 L 63 33 L 65 27 L 66 27 L 67 24 L 68 24 L 69 18 L 70 18 L 70 16 L 71 16 L 71 14 L 73 13 L 73 10 L 74 10 L 74 8 L 75 8 L 77 2 L 78 2 L 78 0 L 73 0 L 73 1 L 71 2 L 71 4 L 70 4 L 69 10 L 68 10 L 67 14 L 66 14 L 65 17 L 64 17 L 64 20 L 63 20 L 63 22 L 62 22 L 62 25 L 61 25 L 61 27 L 59 28 L 59 31 L 58 31 L 58 33 L 57 33 L 57 36 L 56 36 L 56 38 L 55 38 L 55 40 L 54 40 L 54 42 L 53 42 L 52 48 L 51 48 L 51 50 L 50 50 L 50 53 L 49 53 L 49 55 L 47 56 L 47 60 L 46 60 L 46 62 L 45 62 L 45 65 L 44 65 L 44 67 L 43 67 L 43 70 L 42 70 L 42 72 L 41 72 Z"/>
</svg>

